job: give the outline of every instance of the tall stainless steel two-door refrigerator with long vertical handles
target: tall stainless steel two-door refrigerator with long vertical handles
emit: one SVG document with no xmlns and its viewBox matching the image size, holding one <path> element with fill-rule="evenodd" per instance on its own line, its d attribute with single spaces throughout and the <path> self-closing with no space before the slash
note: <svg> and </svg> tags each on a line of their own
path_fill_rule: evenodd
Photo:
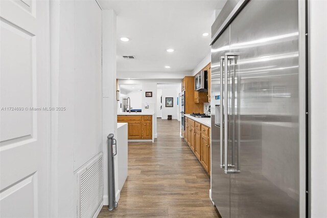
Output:
<svg viewBox="0 0 327 218">
<path fill-rule="evenodd" d="M 298 4 L 228 0 L 212 27 L 212 200 L 222 217 L 299 217 L 305 207 Z"/>
</svg>

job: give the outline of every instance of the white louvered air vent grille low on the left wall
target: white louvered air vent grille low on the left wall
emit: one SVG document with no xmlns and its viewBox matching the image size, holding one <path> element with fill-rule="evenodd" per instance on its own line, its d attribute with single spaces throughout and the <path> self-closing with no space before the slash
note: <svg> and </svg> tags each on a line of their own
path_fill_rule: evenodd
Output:
<svg viewBox="0 0 327 218">
<path fill-rule="evenodd" d="M 94 217 L 103 201 L 102 154 L 77 173 L 79 202 L 78 217 Z"/>
</svg>

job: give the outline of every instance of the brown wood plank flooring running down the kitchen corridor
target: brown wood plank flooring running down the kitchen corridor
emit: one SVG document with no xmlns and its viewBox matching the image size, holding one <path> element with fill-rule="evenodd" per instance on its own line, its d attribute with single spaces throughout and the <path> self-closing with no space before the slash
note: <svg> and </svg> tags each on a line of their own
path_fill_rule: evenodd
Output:
<svg viewBox="0 0 327 218">
<path fill-rule="evenodd" d="M 210 178 L 179 137 L 177 120 L 157 120 L 158 138 L 128 143 L 128 178 L 118 207 L 98 217 L 218 217 Z"/>
</svg>

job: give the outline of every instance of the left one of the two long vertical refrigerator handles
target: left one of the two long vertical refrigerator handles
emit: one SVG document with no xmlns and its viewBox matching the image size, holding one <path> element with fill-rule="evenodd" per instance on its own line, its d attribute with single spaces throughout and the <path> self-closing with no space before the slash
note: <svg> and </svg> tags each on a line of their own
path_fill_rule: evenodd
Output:
<svg viewBox="0 0 327 218">
<path fill-rule="evenodd" d="M 220 168 L 224 168 L 224 94 L 223 94 L 223 63 L 224 63 L 224 56 L 220 57 Z"/>
</svg>

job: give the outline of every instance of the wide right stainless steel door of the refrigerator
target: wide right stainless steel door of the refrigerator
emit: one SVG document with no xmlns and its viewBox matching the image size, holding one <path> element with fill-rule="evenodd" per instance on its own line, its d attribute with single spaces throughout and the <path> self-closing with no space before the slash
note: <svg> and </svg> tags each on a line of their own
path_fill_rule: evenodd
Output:
<svg viewBox="0 0 327 218">
<path fill-rule="evenodd" d="M 297 12 L 297 1 L 250 1 L 230 26 L 241 99 L 230 217 L 299 216 Z"/>
</svg>

